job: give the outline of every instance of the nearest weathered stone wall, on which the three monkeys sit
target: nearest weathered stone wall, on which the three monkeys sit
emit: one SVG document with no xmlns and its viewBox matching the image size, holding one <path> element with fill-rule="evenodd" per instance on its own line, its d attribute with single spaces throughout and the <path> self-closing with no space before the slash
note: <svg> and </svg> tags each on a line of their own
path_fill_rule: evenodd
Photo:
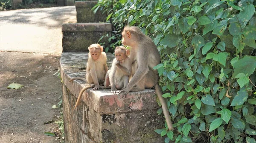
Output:
<svg viewBox="0 0 256 143">
<path fill-rule="evenodd" d="M 107 53 L 108 67 L 113 54 Z M 70 77 L 84 77 L 87 53 L 62 53 L 61 77 L 66 143 L 163 143 L 164 138 L 154 132 L 163 128 L 164 118 L 157 115 L 159 108 L 154 90 L 130 92 L 127 98 L 111 94 L 110 89 L 82 95 L 77 109 L 76 97 L 85 82 Z"/>
</svg>

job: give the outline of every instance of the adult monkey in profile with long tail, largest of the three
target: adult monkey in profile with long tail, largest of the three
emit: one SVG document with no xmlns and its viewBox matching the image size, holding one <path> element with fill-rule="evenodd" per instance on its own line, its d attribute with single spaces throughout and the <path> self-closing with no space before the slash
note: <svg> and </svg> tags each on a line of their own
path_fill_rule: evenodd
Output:
<svg viewBox="0 0 256 143">
<path fill-rule="evenodd" d="M 122 44 L 131 47 L 129 57 L 133 62 L 132 66 L 135 69 L 135 74 L 127 87 L 119 93 L 124 93 L 123 96 L 126 97 L 129 91 L 142 91 L 145 88 L 155 87 L 157 97 L 162 104 L 168 129 L 172 130 L 173 126 L 169 111 L 162 97 L 161 88 L 158 85 L 159 75 L 157 70 L 153 70 L 153 67 L 161 62 L 157 46 L 151 38 L 143 34 L 140 28 L 135 26 L 125 26 L 122 31 Z"/>
</svg>

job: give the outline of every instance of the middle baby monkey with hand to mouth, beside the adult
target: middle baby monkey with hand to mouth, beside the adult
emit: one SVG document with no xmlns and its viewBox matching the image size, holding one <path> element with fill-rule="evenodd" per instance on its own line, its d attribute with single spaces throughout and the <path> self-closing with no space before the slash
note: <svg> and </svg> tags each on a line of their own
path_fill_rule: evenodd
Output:
<svg viewBox="0 0 256 143">
<path fill-rule="evenodd" d="M 111 70 L 108 70 L 107 73 L 110 80 L 111 93 L 116 93 L 116 89 L 122 90 L 129 82 L 132 64 L 130 57 L 128 57 L 129 55 L 130 50 L 123 46 L 116 47 L 116 59 L 113 59 Z"/>
</svg>

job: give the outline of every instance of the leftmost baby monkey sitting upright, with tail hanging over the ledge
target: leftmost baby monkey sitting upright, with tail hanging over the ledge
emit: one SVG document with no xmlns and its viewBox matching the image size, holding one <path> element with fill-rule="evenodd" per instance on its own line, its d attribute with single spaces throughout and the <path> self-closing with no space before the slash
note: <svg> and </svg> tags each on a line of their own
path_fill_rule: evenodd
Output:
<svg viewBox="0 0 256 143">
<path fill-rule="evenodd" d="M 86 81 L 88 84 L 90 84 L 84 87 L 80 91 L 74 109 L 76 109 L 82 94 L 88 88 L 93 88 L 93 90 L 99 90 L 99 88 L 103 88 L 103 87 L 106 88 L 105 86 L 99 86 L 99 83 L 105 79 L 105 75 L 108 71 L 106 53 L 103 52 L 103 47 L 99 44 L 92 44 L 90 45 L 90 47 L 88 47 L 88 49 L 89 49 L 89 53 L 88 53 L 89 58 L 88 58 L 87 67 L 86 67 L 86 79 L 79 78 L 79 77 L 74 77 L 70 79 L 70 81 L 79 79 L 79 80 Z"/>
</svg>

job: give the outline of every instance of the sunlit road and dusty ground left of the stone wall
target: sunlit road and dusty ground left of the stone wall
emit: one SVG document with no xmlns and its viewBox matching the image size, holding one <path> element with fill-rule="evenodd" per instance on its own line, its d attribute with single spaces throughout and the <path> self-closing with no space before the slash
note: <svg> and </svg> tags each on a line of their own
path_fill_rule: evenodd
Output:
<svg viewBox="0 0 256 143">
<path fill-rule="evenodd" d="M 58 126 L 44 122 L 60 114 L 52 108 L 61 100 L 61 80 L 53 74 L 67 22 L 76 22 L 75 6 L 0 12 L 0 143 L 59 143 L 44 135 Z M 7 89 L 12 83 L 24 87 Z"/>
</svg>

